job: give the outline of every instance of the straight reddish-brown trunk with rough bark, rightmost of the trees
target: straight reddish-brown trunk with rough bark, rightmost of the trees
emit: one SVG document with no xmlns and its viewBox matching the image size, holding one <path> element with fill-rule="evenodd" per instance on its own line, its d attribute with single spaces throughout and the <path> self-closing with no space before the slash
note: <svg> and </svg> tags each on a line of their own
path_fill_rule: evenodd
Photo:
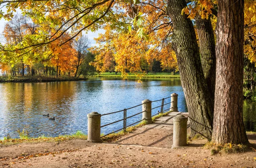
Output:
<svg viewBox="0 0 256 168">
<path fill-rule="evenodd" d="M 219 0 L 212 140 L 248 142 L 243 123 L 244 0 Z"/>
</svg>

